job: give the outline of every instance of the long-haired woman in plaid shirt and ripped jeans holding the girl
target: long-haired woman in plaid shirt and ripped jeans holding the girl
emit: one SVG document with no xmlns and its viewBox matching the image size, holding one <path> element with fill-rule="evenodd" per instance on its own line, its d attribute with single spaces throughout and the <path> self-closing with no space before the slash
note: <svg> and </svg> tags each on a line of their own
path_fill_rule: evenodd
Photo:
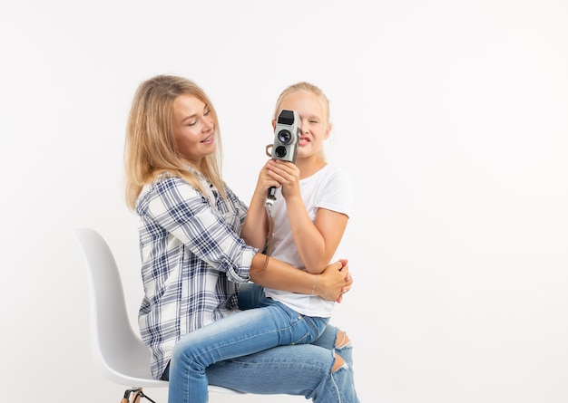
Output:
<svg viewBox="0 0 568 403">
<path fill-rule="evenodd" d="M 267 258 L 239 237 L 247 207 L 220 177 L 217 116 L 193 82 L 175 76 L 142 82 L 132 102 L 125 159 L 128 206 L 142 220 L 142 341 L 152 353 L 154 378 L 170 380 L 171 402 L 190 398 L 183 379 L 188 363 L 173 360 L 174 349 L 192 331 L 239 314 L 238 284 L 252 281 L 283 291 L 313 292 L 331 301 L 348 291 L 346 262 L 329 264 L 319 275 L 305 273 Z M 357 401 L 349 397 L 351 370 L 333 352 L 333 341 L 337 344 L 344 333 L 331 332 L 327 349 L 306 345 L 266 350 L 222 361 L 207 375 L 211 383 L 250 393 L 301 394 L 326 403 Z M 309 362 L 306 378 L 296 383 L 298 367 L 287 369 L 286 362 L 301 365 L 308 357 L 326 372 L 318 373 Z M 243 369 L 247 360 L 253 368 Z M 227 369 L 230 376 L 225 376 Z M 279 374 L 276 379 L 273 373 Z M 233 384 L 234 379 L 255 379 L 257 385 Z M 288 387 L 271 387 L 270 380 Z"/>
</svg>

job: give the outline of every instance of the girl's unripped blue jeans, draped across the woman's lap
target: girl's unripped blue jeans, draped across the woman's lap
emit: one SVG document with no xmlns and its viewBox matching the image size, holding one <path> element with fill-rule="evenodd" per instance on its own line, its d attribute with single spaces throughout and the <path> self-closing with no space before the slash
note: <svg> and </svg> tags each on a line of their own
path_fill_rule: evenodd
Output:
<svg viewBox="0 0 568 403">
<path fill-rule="evenodd" d="M 178 341 L 171 356 L 168 401 L 206 403 L 209 381 L 205 369 L 211 364 L 276 346 L 311 343 L 327 324 L 328 318 L 300 315 L 281 302 L 264 298 L 260 308 L 191 331 Z"/>
</svg>

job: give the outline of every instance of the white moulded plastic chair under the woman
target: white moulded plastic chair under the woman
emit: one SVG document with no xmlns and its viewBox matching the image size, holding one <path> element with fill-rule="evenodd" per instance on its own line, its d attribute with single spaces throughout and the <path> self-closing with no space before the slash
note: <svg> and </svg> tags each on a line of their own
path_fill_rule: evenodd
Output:
<svg viewBox="0 0 568 403">
<path fill-rule="evenodd" d="M 132 331 L 122 280 L 113 253 L 103 236 L 90 228 L 73 232 L 87 266 L 91 305 L 91 346 L 97 368 L 106 379 L 139 388 L 167 388 L 168 382 L 152 379 L 150 351 Z M 210 392 L 239 394 L 232 389 L 209 386 Z"/>
</svg>

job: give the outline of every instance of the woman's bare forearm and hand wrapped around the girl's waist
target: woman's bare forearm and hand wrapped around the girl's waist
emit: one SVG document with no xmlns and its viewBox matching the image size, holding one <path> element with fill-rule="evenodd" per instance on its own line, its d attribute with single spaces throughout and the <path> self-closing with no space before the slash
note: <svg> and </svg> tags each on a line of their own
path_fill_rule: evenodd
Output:
<svg viewBox="0 0 568 403">
<path fill-rule="evenodd" d="M 343 293 L 351 288 L 351 275 L 347 260 L 328 266 L 320 274 L 306 273 L 295 267 L 269 257 L 255 254 L 250 267 L 250 281 L 292 293 L 314 293 L 328 301 L 340 301 Z"/>
</svg>

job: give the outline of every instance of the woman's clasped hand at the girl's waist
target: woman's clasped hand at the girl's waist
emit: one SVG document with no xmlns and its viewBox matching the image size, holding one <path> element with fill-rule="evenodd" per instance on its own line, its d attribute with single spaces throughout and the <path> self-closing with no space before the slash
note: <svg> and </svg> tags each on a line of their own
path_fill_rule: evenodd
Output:
<svg viewBox="0 0 568 403">
<path fill-rule="evenodd" d="M 349 292 L 353 283 L 347 259 L 329 264 L 321 274 L 316 275 L 314 293 L 328 301 L 341 302 L 343 294 Z"/>
</svg>

